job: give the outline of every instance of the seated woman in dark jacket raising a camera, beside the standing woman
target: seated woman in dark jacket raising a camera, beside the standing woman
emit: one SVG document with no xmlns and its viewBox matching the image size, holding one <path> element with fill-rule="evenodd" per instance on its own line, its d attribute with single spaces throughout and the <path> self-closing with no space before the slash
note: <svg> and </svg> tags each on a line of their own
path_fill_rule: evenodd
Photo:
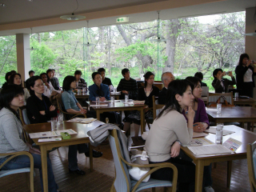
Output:
<svg viewBox="0 0 256 192">
<path fill-rule="evenodd" d="M 229 75 L 232 78 L 232 81 L 228 80 L 227 78 L 223 78 L 223 76 L 226 75 L 226 72 L 222 69 L 216 69 L 214 70 L 213 76 L 214 76 L 214 81 L 211 83 L 211 85 L 214 87 L 215 93 L 228 93 L 229 85 L 235 85 L 236 81 L 235 78 L 232 74 L 232 71 L 230 71 L 227 75 Z"/>
</svg>

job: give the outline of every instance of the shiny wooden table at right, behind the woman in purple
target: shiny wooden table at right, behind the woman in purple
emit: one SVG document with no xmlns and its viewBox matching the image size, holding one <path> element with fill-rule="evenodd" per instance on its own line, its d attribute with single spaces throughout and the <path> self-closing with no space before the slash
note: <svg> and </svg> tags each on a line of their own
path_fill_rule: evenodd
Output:
<svg viewBox="0 0 256 192">
<path fill-rule="evenodd" d="M 256 120 L 256 108 L 252 106 L 226 106 L 222 107 L 222 113 L 217 114 L 216 107 L 206 107 L 208 117 L 214 122 L 247 122 L 247 130 L 250 130 L 250 122 Z"/>
</svg>

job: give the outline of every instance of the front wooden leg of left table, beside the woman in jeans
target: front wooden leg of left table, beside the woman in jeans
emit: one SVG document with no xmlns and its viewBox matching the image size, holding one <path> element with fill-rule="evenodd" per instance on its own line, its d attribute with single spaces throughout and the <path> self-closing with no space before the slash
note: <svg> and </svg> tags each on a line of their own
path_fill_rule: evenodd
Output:
<svg viewBox="0 0 256 192">
<path fill-rule="evenodd" d="M 47 150 L 46 146 L 40 146 L 42 161 L 42 183 L 43 191 L 48 192 L 48 174 L 47 174 Z"/>
</svg>

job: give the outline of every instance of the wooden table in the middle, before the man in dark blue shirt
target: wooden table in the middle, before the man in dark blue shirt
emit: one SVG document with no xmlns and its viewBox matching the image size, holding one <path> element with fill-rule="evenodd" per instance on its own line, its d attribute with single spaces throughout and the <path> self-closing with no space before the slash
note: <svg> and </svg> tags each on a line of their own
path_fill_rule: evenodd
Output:
<svg viewBox="0 0 256 192">
<path fill-rule="evenodd" d="M 129 102 L 132 102 L 132 99 L 129 99 Z M 103 112 L 109 112 L 109 111 L 120 111 L 120 110 L 138 110 L 141 112 L 141 134 L 143 134 L 144 130 L 144 124 L 145 124 L 145 118 L 144 118 L 144 107 L 146 105 L 134 105 L 134 104 L 126 104 L 124 103 L 125 100 L 115 100 L 114 104 L 111 104 L 111 102 L 102 102 L 101 105 L 107 106 L 90 106 L 93 110 L 96 110 L 97 118 L 100 120 L 100 114 Z M 95 102 L 90 102 L 90 105 L 95 105 Z"/>
</svg>

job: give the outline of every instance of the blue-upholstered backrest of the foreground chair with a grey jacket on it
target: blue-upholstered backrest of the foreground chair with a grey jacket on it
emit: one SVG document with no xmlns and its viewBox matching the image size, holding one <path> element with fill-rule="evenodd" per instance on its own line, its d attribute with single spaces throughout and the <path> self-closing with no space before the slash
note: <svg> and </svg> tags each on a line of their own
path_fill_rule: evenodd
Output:
<svg viewBox="0 0 256 192">
<path fill-rule="evenodd" d="M 114 188 L 116 191 L 130 191 L 130 176 L 128 168 L 124 162 L 122 162 L 122 150 L 120 148 L 120 142 L 118 140 L 117 130 L 111 130 L 109 136 L 110 148 L 112 150 L 115 167 L 115 180 Z M 122 157 L 122 158 L 121 158 Z"/>
</svg>

